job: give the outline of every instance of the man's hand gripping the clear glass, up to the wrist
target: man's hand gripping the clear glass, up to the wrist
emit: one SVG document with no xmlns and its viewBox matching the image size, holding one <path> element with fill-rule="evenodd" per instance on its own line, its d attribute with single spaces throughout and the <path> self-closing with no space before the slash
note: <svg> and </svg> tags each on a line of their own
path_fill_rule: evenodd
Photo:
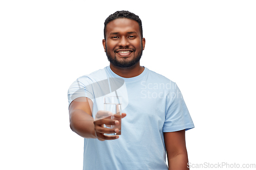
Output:
<svg viewBox="0 0 256 170">
<path fill-rule="evenodd" d="M 111 116 L 113 115 L 113 113 L 109 112 L 109 111 L 104 111 L 104 110 L 100 110 L 97 112 L 96 116 L 95 116 L 95 120 L 94 120 L 94 130 L 95 130 L 95 134 L 96 137 L 101 140 L 113 140 L 113 139 L 118 139 L 119 136 L 118 135 L 104 135 L 104 133 L 118 133 L 119 129 L 118 128 L 104 128 L 104 124 L 106 126 L 110 126 L 110 125 L 119 125 L 119 121 L 116 119 L 120 119 L 126 116 L 126 113 L 122 113 L 122 115 L 114 115 L 116 119 L 111 119 Z M 120 116 L 120 118 L 118 117 Z"/>
</svg>

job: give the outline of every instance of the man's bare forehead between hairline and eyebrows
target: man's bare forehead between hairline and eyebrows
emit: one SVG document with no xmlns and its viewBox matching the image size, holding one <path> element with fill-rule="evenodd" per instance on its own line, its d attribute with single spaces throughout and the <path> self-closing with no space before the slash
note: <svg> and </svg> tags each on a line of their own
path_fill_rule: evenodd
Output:
<svg viewBox="0 0 256 170">
<path fill-rule="evenodd" d="M 118 18 L 113 21 L 110 21 L 106 25 L 106 36 L 111 33 L 127 33 L 127 32 L 136 32 L 140 35 L 139 23 L 135 20 L 128 18 Z"/>
</svg>

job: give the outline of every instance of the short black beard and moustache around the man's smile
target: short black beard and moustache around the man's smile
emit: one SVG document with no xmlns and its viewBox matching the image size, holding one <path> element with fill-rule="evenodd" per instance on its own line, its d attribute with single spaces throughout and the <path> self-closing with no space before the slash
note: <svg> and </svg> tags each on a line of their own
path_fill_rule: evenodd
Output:
<svg viewBox="0 0 256 170">
<path fill-rule="evenodd" d="M 142 46 L 142 43 L 141 43 L 141 46 Z M 116 50 L 115 50 L 115 56 L 111 56 L 111 54 L 108 51 L 108 48 L 106 47 L 106 45 L 105 45 L 105 48 L 106 48 L 106 56 L 108 57 L 109 62 L 112 63 L 114 66 L 121 67 L 121 68 L 132 67 L 133 65 L 137 64 L 140 61 L 141 56 L 142 56 L 142 48 L 139 51 L 137 56 L 135 56 L 135 51 L 136 50 L 133 49 L 133 48 L 119 48 L 119 49 L 131 49 L 131 50 L 133 50 L 134 58 L 131 61 L 127 61 L 128 57 L 123 57 L 121 61 L 118 61 L 116 59 Z M 117 49 L 117 50 L 119 50 L 119 49 Z"/>
</svg>

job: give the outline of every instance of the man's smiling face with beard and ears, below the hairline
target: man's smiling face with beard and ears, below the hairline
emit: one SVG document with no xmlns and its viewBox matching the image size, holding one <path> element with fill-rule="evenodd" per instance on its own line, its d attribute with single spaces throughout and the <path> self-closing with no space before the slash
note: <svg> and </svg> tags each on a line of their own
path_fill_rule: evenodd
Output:
<svg viewBox="0 0 256 170">
<path fill-rule="evenodd" d="M 106 39 L 102 43 L 110 63 L 127 68 L 140 61 L 145 39 L 141 39 L 137 21 L 118 18 L 106 25 Z"/>
</svg>

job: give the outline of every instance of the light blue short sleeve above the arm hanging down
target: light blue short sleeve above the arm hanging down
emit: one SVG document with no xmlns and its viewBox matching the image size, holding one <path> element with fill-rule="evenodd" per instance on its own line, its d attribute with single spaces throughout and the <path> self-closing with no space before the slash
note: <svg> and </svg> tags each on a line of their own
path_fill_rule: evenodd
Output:
<svg viewBox="0 0 256 170">
<path fill-rule="evenodd" d="M 167 95 L 163 132 L 189 130 L 194 127 L 181 91 L 175 84 L 175 88 L 169 90 Z"/>
</svg>

